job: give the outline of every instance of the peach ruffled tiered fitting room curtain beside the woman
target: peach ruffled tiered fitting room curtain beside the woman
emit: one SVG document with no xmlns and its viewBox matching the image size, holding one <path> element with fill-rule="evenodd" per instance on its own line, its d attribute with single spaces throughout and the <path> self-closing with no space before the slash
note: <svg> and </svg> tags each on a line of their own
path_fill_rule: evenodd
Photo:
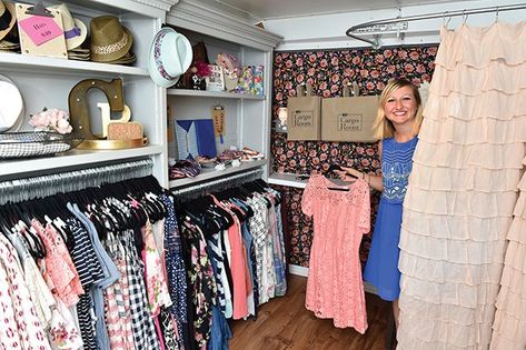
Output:
<svg viewBox="0 0 526 350">
<path fill-rule="evenodd" d="M 496 314 L 496 349 L 524 349 L 526 22 L 440 37 L 404 202 L 398 349 L 487 349 Z"/>
</svg>

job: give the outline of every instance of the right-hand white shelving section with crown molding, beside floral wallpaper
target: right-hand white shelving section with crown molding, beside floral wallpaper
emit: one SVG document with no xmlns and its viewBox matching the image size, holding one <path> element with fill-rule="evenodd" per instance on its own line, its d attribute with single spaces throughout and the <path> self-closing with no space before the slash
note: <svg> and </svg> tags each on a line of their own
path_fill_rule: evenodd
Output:
<svg viewBox="0 0 526 350">
<path fill-rule="evenodd" d="M 247 21 L 191 0 L 180 0 L 167 14 L 167 24 L 183 33 L 190 42 L 202 41 L 208 60 L 214 63 L 217 54 L 228 52 L 242 66 L 264 66 L 265 96 L 234 92 L 167 89 L 167 104 L 177 120 L 211 119 L 212 108 L 222 106 L 226 116 L 224 142 L 216 139 L 218 153 L 230 147 L 248 147 L 270 156 L 270 111 L 272 51 L 280 37 L 269 33 Z M 177 159 L 176 146 L 169 146 L 169 154 Z M 268 177 L 268 161 L 245 163 L 240 168 L 228 168 L 228 172 L 202 173 L 196 179 L 170 181 L 170 187 L 188 186 L 217 176 L 262 167 Z"/>
</svg>

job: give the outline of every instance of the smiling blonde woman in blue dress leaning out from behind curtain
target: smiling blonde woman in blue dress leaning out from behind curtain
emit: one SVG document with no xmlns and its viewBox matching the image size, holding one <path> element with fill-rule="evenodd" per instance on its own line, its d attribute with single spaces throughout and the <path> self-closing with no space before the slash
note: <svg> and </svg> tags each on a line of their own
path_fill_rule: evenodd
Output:
<svg viewBox="0 0 526 350">
<path fill-rule="evenodd" d="M 346 181 L 361 178 L 371 188 L 381 191 L 364 279 L 376 287 L 381 299 L 393 301 L 396 324 L 398 324 L 400 293 L 398 242 L 401 207 L 413 168 L 413 153 L 418 142 L 417 134 L 421 123 L 420 104 L 418 88 L 410 81 L 397 79 L 389 82 L 380 94 L 374 127 L 380 140 L 378 153 L 381 176 L 371 176 L 346 167 L 341 167 L 344 171 L 338 172 Z"/>
</svg>

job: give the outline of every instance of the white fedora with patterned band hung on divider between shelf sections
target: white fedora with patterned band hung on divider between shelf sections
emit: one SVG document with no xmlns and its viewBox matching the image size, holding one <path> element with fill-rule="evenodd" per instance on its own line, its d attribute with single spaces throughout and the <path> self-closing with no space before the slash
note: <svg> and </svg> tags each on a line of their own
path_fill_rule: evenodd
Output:
<svg viewBox="0 0 526 350">
<path fill-rule="evenodd" d="M 172 28 L 162 28 L 153 38 L 148 54 L 151 80 L 162 88 L 173 86 L 190 67 L 191 59 L 190 41 Z"/>
</svg>

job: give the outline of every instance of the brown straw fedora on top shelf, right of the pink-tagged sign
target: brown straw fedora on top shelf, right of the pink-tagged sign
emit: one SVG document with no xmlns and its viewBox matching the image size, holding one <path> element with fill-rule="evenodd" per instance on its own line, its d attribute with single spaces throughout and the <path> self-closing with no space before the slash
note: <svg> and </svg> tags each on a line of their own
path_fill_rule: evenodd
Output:
<svg viewBox="0 0 526 350">
<path fill-rule="evenodd" d="M 90 21 L 91 60 L 109 62 L 120 59 L 133 43 L 133 36 L 115 16 L 100 16 Z"/>
</svg>

